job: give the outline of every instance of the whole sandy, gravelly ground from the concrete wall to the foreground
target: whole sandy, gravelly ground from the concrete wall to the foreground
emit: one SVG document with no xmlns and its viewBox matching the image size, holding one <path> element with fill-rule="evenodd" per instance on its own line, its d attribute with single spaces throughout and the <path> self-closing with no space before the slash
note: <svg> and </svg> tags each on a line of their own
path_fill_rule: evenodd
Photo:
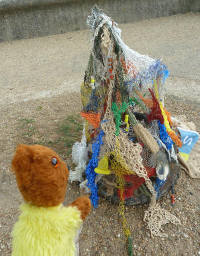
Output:
<svg viewBox="0 0 200 256">
<path fill-rule="evenodd" d="M 199 120 L 200 47 L 199 15 L 189 13 L 120 24 L 122 38 L 130 48 L 162 58 L 170 71 L 166 81 L 166 109 L 172 115 L 185 114 Z M 66 116 L 81 110 L 80 84 L 89 57 L 89 32 L 33 38 L 0 44 L 0 255 L 11 255 L 10 232 L 23 202 L 15 177 L 9 173 L 17 143 L 56 141 L 57 127 Z M 22 125 L 21 120 L 34 120 Z M 25 132 L 26 131 L 26 132 Z M 24 133 L 25 132 L 25 133 Z M 72 167 L 64 148 L 52 148 Z M 69 184 L 65 204 L 79 196 L 76 184 Z M 185 173 L 175 186 L 176 204 L 160 200 L 166 210 L 177 215 L 181 225 L 167 224 L 166 239 L 150 238 L 142 221 L 144 206 L 126 207 L 136 256 L 197 256 L 199 249 L 199 181 Z M 199 253 L 198 253 L 199 252 Z M 127 255 L 117 206 L 101 198 L 99 208 L 85 221 L 80 236 L 80 255 Z"/>
</svg>

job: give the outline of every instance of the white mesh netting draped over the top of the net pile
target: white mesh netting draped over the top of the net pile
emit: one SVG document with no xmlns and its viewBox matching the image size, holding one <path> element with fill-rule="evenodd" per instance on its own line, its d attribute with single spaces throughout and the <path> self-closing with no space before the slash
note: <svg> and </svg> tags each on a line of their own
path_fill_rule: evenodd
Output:
<svg viewBox="0 0 200 256">
<path fill-rule="evenodd" d="M 165 69 L 165 66 L 162 65 L 162 62 L 160 60 L 150 58 L 148 55 L 139 54 L 138 52 L 135 52 L 126 44 L 124 44 L 123 40 L 121 39 L 121 30 L 117 28 L 117 24 L 113 22 L 111 17 L 108 17 L 107 15 L 105 15 L 105 13 L 99 11 L 99 9 L 93 8 L 92 12 L 93 14 L 87 19 L 87 25 L 93 31 L 91 48 L 93 49 L 95 38 L 97 38 L 99 30 L 103 28 L 103 38 L 101 40 L 103 44 L 102 46 L 104 49 L 107 48 L 107 56 L 111 54 L 113 48 L 111 47 L 111 44 L 108 44 L 109 38 L 107 36 L 107 29 L 104 26 L 105 24 L 107 24 L 107 27 L 109 27 L 109 32 L 111 32 L 111 36 L 115 39 L 115 42 L 119 44 L 122 50 L 124 58 L 123 61 L 128 63 L 128 72 L 126 73 L 125 81 L 127 81 L 128 87 L 130 87 L 130 91 L 132 91 L 133 88 L 136 89 L 136 85 L 142 83 L 140 93 L 146 93 L 147 96 L 150 96 L 150 94 L 148 93 L 148 88 L 154 91 L 152 79 L 156 79 L 158 73 L 162 72 L 162 69 Z M 93 53 L 93 56 L 94 55 L 95 54 Z M 99 63 L 99 65 L 101 65 L 101 62 L 99 62 L 99 60 L 97 60 L 97 62 Z M 102 79 L 103 77 L 105 77 L 105 71 L 107 71 L 107 60 L 105 60 L 104 63 L 105 65 L 103 73 L 101 74 Z M 158 93 L 160 95 L 160 98 L 163 99 L 164 90 L 162 83 L 160 83 L 160 86 L 158 87 Z"/>
</svg>

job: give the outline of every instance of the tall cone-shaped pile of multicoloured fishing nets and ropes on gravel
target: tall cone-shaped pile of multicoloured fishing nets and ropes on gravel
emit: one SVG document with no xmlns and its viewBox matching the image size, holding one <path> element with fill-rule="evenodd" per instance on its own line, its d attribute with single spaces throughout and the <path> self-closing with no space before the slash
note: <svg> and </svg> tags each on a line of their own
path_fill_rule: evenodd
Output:
<svg viewBox="0 0 200 256">
<path fill-rule="evenodd" d="M 124 204 L 150 202 L 144 221 L 153 236 L 162 224 L 179 224 L 156 200 L 179 177 L 177 147 L 170 113 L 164 109 L 168 70 L 161 60 L 140 55 L 121 40 L 117 24 L 97 7 L 87 24 L 92 30 L 91 54 L 81 85 L 83 138 L 74 144 L 77 165 L 70 181 L 91 194 L 119 204 L 123 230 L 130 238 Z"/>
</svg>

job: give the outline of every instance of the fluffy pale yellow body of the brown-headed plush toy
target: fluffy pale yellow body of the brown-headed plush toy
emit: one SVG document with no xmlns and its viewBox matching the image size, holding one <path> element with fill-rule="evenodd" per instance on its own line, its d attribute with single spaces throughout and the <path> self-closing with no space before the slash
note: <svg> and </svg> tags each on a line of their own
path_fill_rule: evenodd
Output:
<svg viewBox="0 0 200 256">
<path fill-rule="evenodd" d="M 22 204 L 11 232 L 11 256 L 74 256 L 74 239 L 81 226 L 76 207 L 36 207 Z"/>
</svg>

